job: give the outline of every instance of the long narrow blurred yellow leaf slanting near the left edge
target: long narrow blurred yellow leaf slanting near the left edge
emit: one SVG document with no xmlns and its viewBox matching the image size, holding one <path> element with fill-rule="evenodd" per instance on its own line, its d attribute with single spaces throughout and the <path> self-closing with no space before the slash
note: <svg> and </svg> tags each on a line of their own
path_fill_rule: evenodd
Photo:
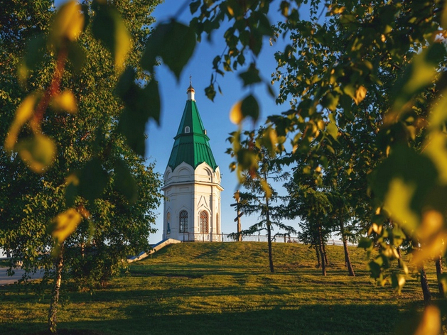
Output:
<svg viewBox="0 0 447 335">
<path fill-rule="evenodd" d="M 39 94 L 33 93 L 28 95 L 16 110 L 16 115 L 14 116 L 14 121 L 9 128 L 9 132 L 5 138 L 4 148 L 6 151 L 11 152 L 16 145 L 18 134 L 21 131 L 23 125 L 31 119 L 34 113 L 34 106 L 36 106 L 36 101 Z"/>
</svg>

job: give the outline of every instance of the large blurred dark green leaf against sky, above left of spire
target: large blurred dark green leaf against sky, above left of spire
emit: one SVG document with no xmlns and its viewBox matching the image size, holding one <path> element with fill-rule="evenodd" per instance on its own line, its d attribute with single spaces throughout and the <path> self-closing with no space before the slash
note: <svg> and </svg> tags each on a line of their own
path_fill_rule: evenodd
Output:
<svg viewBox="0 0 447 335">
<path fill-rule="evenodd" d="M 183 67 L 193 55 L 195 43 L 193 28 L 177 21 L 160 24 L 151 33 L 146 44 L 141 66 L 152 71 L 156 65 L 156 57 L 160 56 L 177 79 L 180 79 Z"/>
</svg>

